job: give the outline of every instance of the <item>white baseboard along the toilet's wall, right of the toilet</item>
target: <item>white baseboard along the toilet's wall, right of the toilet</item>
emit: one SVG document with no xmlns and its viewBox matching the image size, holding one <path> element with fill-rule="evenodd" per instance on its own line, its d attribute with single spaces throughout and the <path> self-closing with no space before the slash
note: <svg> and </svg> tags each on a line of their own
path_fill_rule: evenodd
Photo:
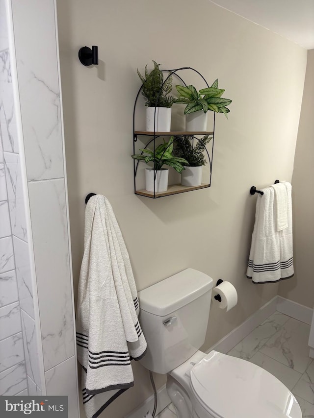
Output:
<svg viewBox="0 0 314 418">
<path fill-rule="evenodd" d="M 269 300 L 258 311 L 254 312 L 247 320 L 233 329 L 229 334 L 223 337 L 218 343 L 212 345 L 207 353 L 211 350 L 217 350 L 220 353 L 228 353 L 236 344 L 250 334 L 257 326 L 266 320 L 276 311 L 277 296 Z"/>
</svg>

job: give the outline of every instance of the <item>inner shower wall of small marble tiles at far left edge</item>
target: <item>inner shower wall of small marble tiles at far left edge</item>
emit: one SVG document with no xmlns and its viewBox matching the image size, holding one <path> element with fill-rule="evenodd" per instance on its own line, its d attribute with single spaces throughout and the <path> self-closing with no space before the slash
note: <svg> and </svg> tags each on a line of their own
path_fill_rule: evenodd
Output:
<svg viewBox="0 0 314 418">
<path fill-rule="evenodd" d="M 16 395 L 28 385 L 14 241 L 27 247 L 27 236 L 5 6 L 0 0 L 0 395 Z"/>
</svg>

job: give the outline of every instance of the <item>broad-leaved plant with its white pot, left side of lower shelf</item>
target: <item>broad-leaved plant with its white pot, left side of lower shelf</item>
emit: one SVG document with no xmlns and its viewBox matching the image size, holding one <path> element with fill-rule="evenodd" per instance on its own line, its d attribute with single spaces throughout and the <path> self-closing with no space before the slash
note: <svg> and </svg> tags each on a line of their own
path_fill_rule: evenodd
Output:
<svg viewBox="0 0 314 418">
<path fill-rule="evenodd" d="M 145 161 L 146 164 L 153 163 L 153 168 L 145 170 L 145 188 L 148 192 L 161 193 L 167 191 L 169 170 L 162 168 L 163 165 L 173 167 L 179 173 L 184 170 L 184 166 L 188 166 L 188 162 L 184 158 L 172 155 L 173 141 L 174 136 L 171 136 L 168 142 L 163 140 L 163 143 L 158 145 L 155 151 L 142 148 L 140 149 L 141 154 L 132 155 L 134 160 Z"/>
</svg>

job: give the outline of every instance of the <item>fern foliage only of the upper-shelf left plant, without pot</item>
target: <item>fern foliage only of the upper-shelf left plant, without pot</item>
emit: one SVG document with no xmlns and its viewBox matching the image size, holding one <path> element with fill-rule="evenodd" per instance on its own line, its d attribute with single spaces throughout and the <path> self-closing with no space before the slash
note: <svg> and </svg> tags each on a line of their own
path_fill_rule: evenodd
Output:
<svg viewBox="0 0 314 418">
<path fill-rule="evenodd" d="M 142 95 L 147 99 L 145 105 L 149 107 L 171 107 L 175 101 L 173 96 L 168 96 L 172 90 L 172 75 L 163 81 L 163 73 L 159 65 L 153 61 L 154 69 L 149 73 L 147 64 L 144 76 L 138 71 L 137 74 L 143 83 Z"/>
</svg>

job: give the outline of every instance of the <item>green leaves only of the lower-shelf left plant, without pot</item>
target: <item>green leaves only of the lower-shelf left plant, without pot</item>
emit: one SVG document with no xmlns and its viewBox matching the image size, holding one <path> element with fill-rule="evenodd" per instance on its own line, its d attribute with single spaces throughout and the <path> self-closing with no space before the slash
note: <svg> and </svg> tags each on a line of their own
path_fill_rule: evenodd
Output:
<svg viewBox="0 0 314 418">
<path fill-rule="evenodd" d="M 152 162 L 155 170 L 160 170 L 163 165 L 173 167 L 176 172 L 183 172 L 184 166 L 188 166 L 188 162 L 179 156 L 172 155 L 174 136 L 171 136 L 168 142 L 158 145 L 154 150 L 142 148 L 142 154 L 132 155 L 134 160 L 145 161 L 146 164 Z M 147 154 L 147 155 L 144 155 Z"/>
</svg>

